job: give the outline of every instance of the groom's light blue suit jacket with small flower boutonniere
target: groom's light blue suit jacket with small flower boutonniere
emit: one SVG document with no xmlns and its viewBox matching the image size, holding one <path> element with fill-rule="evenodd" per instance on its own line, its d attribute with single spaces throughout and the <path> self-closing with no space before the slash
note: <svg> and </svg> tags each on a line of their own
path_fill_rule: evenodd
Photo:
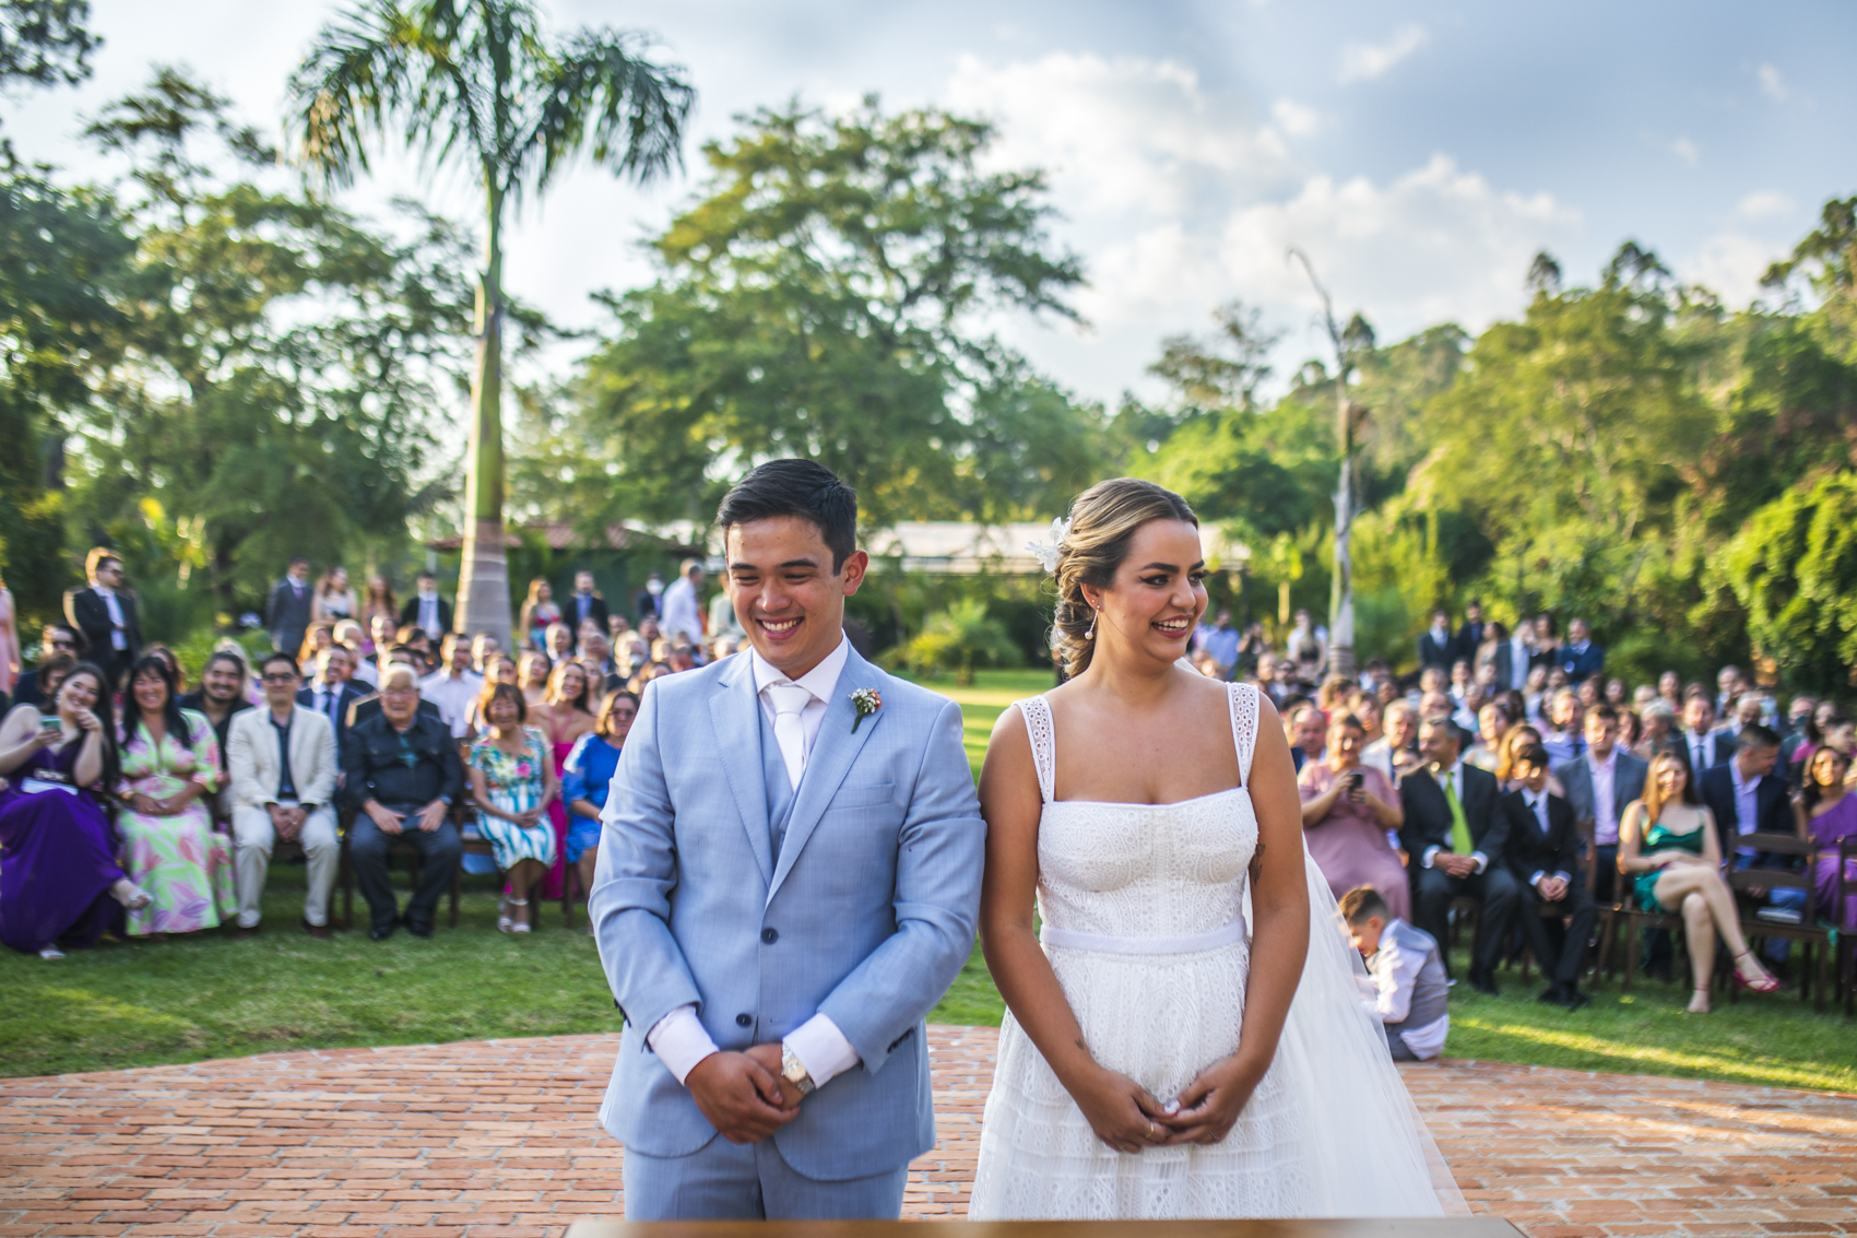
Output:
<svg viewBox="0 0 1857 1238">
<path fill-rule="evenodd" d="M 858 725 L 851 693 L 882 708 Z M 741 652 L 654 678 L 613 775 L 587 898 L 626 1017 L 600 1125 L 646 1156 L 717 1138 L 644 1045 L 678 1006 L 724 1050 L 815 1013 L 858 1065 L 774 1139 L 799 1173 L 858 1179 L 934 1147 L 923 1026 L 973 950 L 986 823 L 960 708 L 856 652 L 845 662 L 771 853 L 760 701 Z"/>
</svg>

